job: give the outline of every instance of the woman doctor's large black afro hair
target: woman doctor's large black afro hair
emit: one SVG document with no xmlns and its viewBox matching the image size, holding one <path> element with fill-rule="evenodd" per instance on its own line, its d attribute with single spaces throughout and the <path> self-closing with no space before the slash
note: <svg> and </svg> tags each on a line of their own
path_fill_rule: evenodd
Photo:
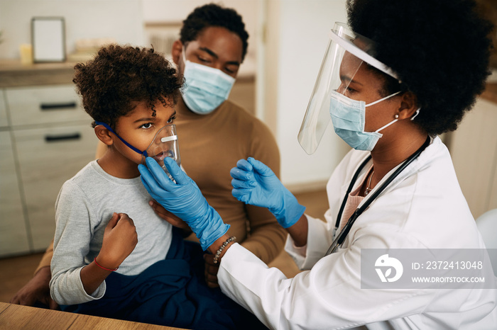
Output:
<svg viewBox="0 0 497 330">
<path fill-rule="evenodd" d="M 456 130 L 484 91 L 493 26 L 477 12 L 472 0 L 347 1 L 352 30 L 376 43 L 374 57 L 417 96 L 414 123 L 430 135 Z"/>
</svg>

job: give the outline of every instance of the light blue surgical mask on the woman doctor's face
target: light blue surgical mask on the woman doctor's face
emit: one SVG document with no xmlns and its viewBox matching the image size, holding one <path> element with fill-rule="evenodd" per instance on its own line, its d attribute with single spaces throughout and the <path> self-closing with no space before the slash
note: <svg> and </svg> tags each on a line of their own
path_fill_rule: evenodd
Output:
<svg viewBox="0 0 497 330">
<path fill-rule="evenodd" d="M 380 131 L 392 125 L 398 119 L 392 120 L 374 132 L 365 132 L 366 107 L 385 101 L 387 98 L 391 98 L 398 93 L 400 91 L 373 103 L 366 104 L 364 101 L 352 100 L 337 91 L 332 91 L 329 102 L 329 114 L 332 116 L 334 131 L 342 140 L 356 150 L 373 150 L 376 142 L 383 136 Z"/>
</svg>

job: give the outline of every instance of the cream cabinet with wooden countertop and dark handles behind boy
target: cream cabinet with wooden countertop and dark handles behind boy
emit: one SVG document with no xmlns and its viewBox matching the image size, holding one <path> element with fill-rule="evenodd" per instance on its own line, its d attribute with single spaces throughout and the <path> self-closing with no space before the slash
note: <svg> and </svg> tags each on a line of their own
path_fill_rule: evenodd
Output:
<svg viewBox="0 0 497 330">
<path fill-rule="evenodd" d="M 72 66 L 1 64 L 0 257 L 5 257 L 50 244 L 58 192 L 94 159 L 97 137 L 71 82 Z"/>
</svg>

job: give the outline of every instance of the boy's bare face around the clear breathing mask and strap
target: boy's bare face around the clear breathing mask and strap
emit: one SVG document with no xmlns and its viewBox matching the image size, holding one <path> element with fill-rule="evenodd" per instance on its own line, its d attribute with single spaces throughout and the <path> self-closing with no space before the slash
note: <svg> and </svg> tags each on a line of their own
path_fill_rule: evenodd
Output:
<svg viewBox="0 0 497 330">
<path fill-rule="evenodd" d="M 136 108 L 128 115 L 117 120 L 116 133 L 136 149 L 145 151 L 153 141 L 155 134 L 165 125 L 173 124 L 176 111 L 172 100 L 165 98 L 166 106 L 157 101 L 155 106 L 155 117 L 153 111 L 146 101 L 137 102 Z M 141 164 L 143 157 L 138 152 L 126 146 L 114 135 L 114 147 L 124 157 L 124 161 L 133 164 Z"/>
</svg>

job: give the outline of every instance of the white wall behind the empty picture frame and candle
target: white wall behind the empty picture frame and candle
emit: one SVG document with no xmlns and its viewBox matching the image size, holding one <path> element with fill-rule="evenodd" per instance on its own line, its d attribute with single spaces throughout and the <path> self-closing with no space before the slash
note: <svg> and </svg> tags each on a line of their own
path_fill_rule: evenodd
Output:
<svg viewBox="0 0 497 330">
<path fill-rule="evenodd" d="M 0 0 L 0 58 L 19 58 L 19 45 L 31 43 L 33 16 L 65 18 L 67 54 L 78 39 L 144 44 L 141 0 Z"/>
</svg>

